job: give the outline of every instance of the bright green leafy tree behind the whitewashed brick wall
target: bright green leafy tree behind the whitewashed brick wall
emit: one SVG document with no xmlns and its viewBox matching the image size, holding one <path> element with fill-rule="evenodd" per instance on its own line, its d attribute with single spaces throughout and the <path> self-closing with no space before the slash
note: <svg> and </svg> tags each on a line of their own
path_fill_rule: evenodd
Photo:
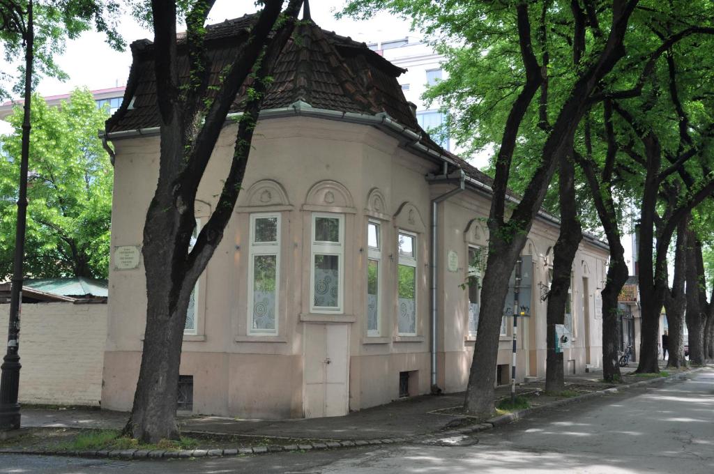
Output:
<svg viewBox="0 0 714 474">
<path fill-rule="evenodd" d="M 32 98 L 26 274 L 31 278 L 91 276 L 109 271 L 113 171 L 97 131 L 108 111 L 89 91 L 76 90 L 61 106 Z M 22 109 L 0 137 L 0 280 L 12 273 Z"/>
</svg>

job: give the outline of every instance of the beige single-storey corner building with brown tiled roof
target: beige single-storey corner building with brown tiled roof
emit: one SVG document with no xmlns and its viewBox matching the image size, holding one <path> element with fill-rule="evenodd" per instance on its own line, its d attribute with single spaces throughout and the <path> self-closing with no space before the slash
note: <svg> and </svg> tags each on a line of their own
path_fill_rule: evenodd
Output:
<svg viewBox="0 0 714 474">
<path fill-rule="evenodd" d="M 211 81 L 253 19 L 208 26 Z M 115 250 L 102 407 L 115 410 L 131 408 L 139 373 L 140 248 L 159 169 L 151 42 L 131 51 L 124 101 L 105 133 L 116 155 Z M 185 64 L 180 47 L 179 54 Z M 491 179 L 423 131 L 399 84 L 403 72 L 312 21 L 296 28 L 273 71 L 233 217 L 191 298 L 182 408 L 316 417 L 465 388 L 479 301 L 488 298 L 478 281 Z M 198 188 L 198 228 L 216 206 L 235 139 L 228 120 Z M 557 221 L 543 213 L 523 249 L 518 311 L 530 317 L 519 323 L 518 380 L 545 375 L 544 296 L 557 237 Z M 567 320 L 574 342 L 565 349 L 571 373 L 601 365 L 597 301 L 607 258 L 594 238 L 575 258 Z M 464 289 L 469 277 L 476 284 Z M 499 383 L 511 373 L 513 308 L 504 314 Z"/>
</svg>

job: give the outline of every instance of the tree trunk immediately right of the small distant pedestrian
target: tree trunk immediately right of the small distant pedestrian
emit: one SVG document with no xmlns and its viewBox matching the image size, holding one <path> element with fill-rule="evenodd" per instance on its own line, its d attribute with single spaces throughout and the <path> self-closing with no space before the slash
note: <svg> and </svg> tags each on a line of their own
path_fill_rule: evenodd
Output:
<svg viewBox="0 0 714 474">
<path fill-rule="evenodd" d="M 686 226 L 680 223 L 677 229 L 677 246 L 675 249 L 674 276 L 672 290 L 665 293 L 665 310 L 667 311 L 669 360 L 667 366 L 680 368 L 687 365 L 684 358 L 684 310 L 687 306 L 685 293 L 687 266 L 687 233 Z M 663 348 L 664 356 L 664 348 Z"/>
</svg>

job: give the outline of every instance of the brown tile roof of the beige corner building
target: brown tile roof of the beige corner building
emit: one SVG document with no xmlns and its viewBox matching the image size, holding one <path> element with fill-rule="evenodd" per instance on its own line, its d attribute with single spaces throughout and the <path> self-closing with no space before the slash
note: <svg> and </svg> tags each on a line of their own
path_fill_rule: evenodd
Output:
<svg viewBox="0 0 714 474">
<path fill-rule="evenodd" d="M 206 27 L 211 84 L 218 84 L 219 74 L 238 54 L 248 28 L 256 19 L 256 15 L 246 15 Z M 188 79 L 188 61 L 182 47 L 184 42 L 185 36 L 179 35 L 178 69 L 181 81 Z M 124 102 L 107 121 L 107 132 L 159 126 L 152 49 L 153 44 L 146 39 L 131 44 L 134 62 Z M 462 158 L 444 151 L 419 126 L 397 81 L 404 72 L 406 69 L 391 64 L 366 44 L 325 31 L 312 21 L 303 21 L 278 57 L 272 73 L 273 84 L 266 92 L 263 108 L 281 109 L 303 101 L 316 109 L 364 114 L 386 112 L 401 125 L 421 133 L 423 145 L 448 156 L 460 164 L 468 176 L 490 186 L 492 180 L 489 176 Z M 251 79 L 246 80 L 231 111 L 241 110 L 239 104 L 250 82 Z"/>
</svg>

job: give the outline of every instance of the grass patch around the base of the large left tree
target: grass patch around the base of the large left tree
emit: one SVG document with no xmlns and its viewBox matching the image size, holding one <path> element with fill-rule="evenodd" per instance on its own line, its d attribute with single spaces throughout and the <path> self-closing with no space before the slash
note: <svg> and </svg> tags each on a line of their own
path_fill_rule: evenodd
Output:
<svg viewBox="0 0 714 474">
<path fill-rule="evenodd" d="M 59 450 L 126 450 L 126 449 L 163 449 L 181 450 L 198 447 L 198 440 L 181 437 L 181 440 L 161 440 L 156 444 L 140 443 L 136 438 L 122 436 L 119 430 L 91 430 L 83 431 L 74 439 L 61 443 Z"/>
</svg>

